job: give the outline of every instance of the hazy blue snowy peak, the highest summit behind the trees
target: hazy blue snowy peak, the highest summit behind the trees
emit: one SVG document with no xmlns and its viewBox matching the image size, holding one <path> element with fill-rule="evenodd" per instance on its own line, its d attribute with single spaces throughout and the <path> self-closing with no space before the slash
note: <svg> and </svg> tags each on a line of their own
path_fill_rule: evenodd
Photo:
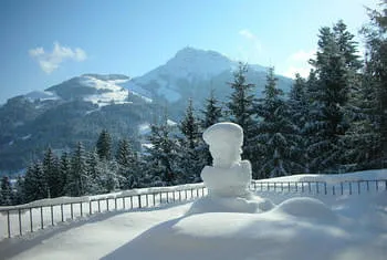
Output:
<svg viewBox="0 0 387 260">
<path fill-rule="evenodd" d="M 185 48 L 166 64 L 122 85 L 181 110 L 189 97 L 195 97 L 194 103 L 200 105 L 211 89 L 216 91 L 218 98 L 224 100 L 230 94 L 228 82 L 232 81 L 237 69 L 237 61 L 218 52 Z M 257 85 L 258 95 L 263 90 L 266 70 L 268 67 L 261 65 L 249 65 L 248 81 Z M 291 84 L 290 79 L 279 76 L 280 89 L 286 92 Z"/>
</svg>

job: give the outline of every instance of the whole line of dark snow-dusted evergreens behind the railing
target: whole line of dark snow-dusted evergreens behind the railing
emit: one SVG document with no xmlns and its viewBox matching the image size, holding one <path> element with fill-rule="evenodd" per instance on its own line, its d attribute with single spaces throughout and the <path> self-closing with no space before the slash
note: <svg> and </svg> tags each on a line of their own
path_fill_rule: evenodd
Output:
<svg viewBox="0 0 387 260">
<path fill-rule="evenodd" d="M 286 95 L 276 87 L 274 67 L 258 93 L 247 80 L 248 65 L 240 63 L 226 102 L 211 91 L 197 111 L 189 100 L 177 126 L 167 115 L 150 125 L 145 152 L 124 139 L 113 155 L 107 131 L 93 150 L 79 143 L 59 158 L 48 148 L 43 160 L 19 177 L 15 189 L 3 177 L 1 204 L 200 181 L 202 167 L 211 165 L 201 134 L 222 121 L 242 126 L 242 157 L 252 163 L 253 178 L 386 168 L 386 4 L 381 11 L 368 10 L 370 22 L 362 29 L 364 60 L 343 21 L 321 28 L 313 69 L 306 79 L 296 74 Z"/>
</svg>

